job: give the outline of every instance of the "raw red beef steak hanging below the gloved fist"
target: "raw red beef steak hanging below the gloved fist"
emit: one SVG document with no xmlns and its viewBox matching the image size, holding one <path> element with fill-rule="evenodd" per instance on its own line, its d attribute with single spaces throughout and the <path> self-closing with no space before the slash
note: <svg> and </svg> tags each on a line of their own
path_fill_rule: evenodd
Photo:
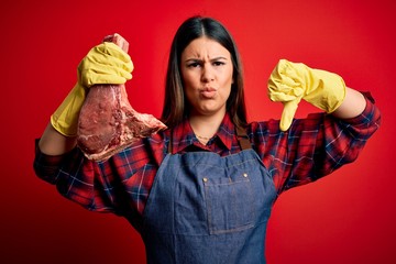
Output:
<svg viewBox="0 0 396 264">
<path fill-rule="evenodd" d="M 130 105 L 124 85 L 89 88 L 78 120 L 77 144 L 94 161 L 105 161 L 138 139 L 166 129 L 152 114 Z"/>
</svg>

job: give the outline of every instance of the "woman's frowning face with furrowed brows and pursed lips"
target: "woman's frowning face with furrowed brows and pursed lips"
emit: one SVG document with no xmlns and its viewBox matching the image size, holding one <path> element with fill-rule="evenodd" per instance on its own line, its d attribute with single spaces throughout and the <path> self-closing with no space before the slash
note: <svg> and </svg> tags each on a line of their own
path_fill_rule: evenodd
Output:
<svg viewBox="0 0 396 264">
<path fill-rule="evenodd" d="M 229 51 L 213 40 L 199 37 L 183 51 L 180 64 L 190 114 L 226 113 L 233 82 Z"/>
</svg>

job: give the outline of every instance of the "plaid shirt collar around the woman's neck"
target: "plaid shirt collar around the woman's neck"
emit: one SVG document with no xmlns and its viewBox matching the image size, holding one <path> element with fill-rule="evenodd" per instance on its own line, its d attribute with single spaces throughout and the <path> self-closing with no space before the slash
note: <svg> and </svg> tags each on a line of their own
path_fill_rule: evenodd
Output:
<svg viewBox="0 0 396 264">
<path fill-rule="evenodd" d="M 231 150 L 234 131 L 234 124 L 231 122 L 229 114 L 226 113 L 218 132 L 213 136 L 217 138 L 215 139 L 217 142 L 213 142 L 213 144 L 218 144 L 219 146 L 221 144 L 222 147 Z M 190 145 L 200 146 L 202 150 L 206 148 L 199 144 L 188 119 L 186 119 L 173 129 L 173 153 L 178 153 Z"/>
</svg>

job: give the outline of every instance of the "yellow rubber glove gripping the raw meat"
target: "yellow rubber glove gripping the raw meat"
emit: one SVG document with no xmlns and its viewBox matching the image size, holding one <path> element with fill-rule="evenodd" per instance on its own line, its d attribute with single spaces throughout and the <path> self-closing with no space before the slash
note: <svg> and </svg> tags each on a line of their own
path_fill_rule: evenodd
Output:
<svg viewBox="0 0 396 264">
<path fill-rule="evenodd" d="M 66 136 L 77 135 L 79 111 L 87 89 L 92 85 L 122 85 L 132 78 L 130 56 L 113 43 L 105 42 L 89 51 L 78 65 L 78 81 L 51 116 L 55 130 Z"/>
</svg>

